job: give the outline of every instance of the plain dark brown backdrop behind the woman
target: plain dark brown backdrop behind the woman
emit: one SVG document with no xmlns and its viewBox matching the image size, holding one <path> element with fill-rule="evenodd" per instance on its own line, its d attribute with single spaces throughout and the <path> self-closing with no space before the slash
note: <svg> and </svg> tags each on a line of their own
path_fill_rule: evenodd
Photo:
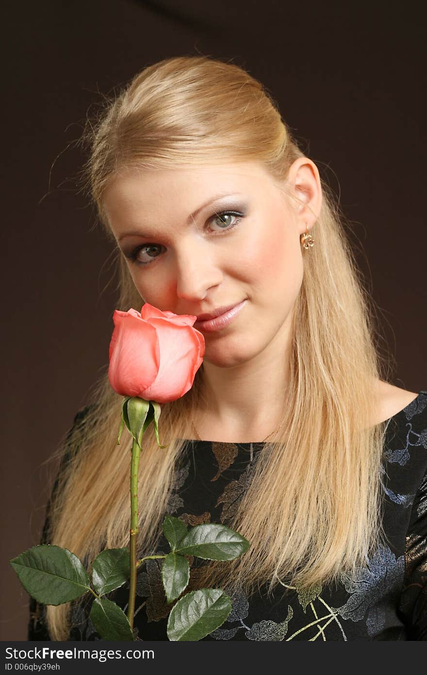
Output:
<svg viewBox="0 0 427 675">
<path fill-rule="evenodd" d="M 98 92 L 192 53 L 233 59 L 264 82 L 341 195 L 397 359 L 393 383 L 427 389 L 420 5 L 45 0 L 7 11 L 3 641 L 26 639 L 28 595 L 8 561 L 39 541 L 41 463 L 108 362 L 111 248 L 75 180 L 84 160 L 75 141 Z"/>
</svg>

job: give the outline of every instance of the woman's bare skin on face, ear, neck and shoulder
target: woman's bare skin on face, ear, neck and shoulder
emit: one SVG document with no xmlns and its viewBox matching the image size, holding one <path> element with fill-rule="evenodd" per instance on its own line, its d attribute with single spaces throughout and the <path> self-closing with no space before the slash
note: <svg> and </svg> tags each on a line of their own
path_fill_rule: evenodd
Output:
<svg viewBox="0 0 427 675">
<path fill-rule="evenodd" d="M 279 425 L 293 308 L 310 255 L 300 236 L 321 204 L 318 169 L 307 157 L 293 162 L 283 184 L 247 162 L 132 170 L 105 190 L 109 225 L 144 302 L 199 315 L 246 300 L 229 325 L 204 333 L 208 411 L 194 416 L 203 439 L 260 441 Z M 418 396 L 376 385 L 372 424 Z"/>
</svg>

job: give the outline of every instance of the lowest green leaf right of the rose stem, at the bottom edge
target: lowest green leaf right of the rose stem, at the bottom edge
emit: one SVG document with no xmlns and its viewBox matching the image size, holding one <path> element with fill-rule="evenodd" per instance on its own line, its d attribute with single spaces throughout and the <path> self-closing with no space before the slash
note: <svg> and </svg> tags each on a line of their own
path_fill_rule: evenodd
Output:
<svg viewBox="0 0 427 675">
<path fill-rule="evenodd" d="M 231 598 L 221 589 L 186 593 L 172 607 L 167 621 L 171 641 L 197 641 L 219 628 L 231 612 Z"/>
</svg>

